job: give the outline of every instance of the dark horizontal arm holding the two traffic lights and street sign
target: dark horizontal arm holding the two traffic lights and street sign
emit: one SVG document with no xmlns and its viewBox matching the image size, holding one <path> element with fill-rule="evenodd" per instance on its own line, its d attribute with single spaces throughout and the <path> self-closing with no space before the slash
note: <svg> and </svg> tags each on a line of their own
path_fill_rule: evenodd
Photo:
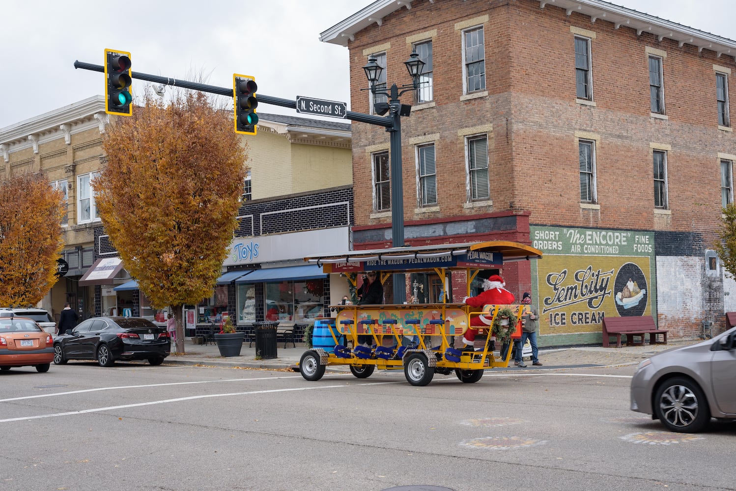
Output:
<svg viewBox="0 0 736 491">
<path fill-rule="evenodd" d="M 80 62 L 79 60 L 74 62 L 74 68 L 81 68 L 82 70 L 100 71 L 105 73 L 105 67 L 102 65 L 94 65 L 93 63 Z M 220 96 L 234 97 L 235 91 L 233 87 L 216 87 L 214 85 L 199 84 L 197 82 L 188 82 L 181 79 L 171 79 L 168 76 L 141 74 L 138 71 L 131 71 L 130 76 L 133 79 L 146 80 L 147 82 L 155 82 L 162 85 L 171 85 L 172 87 L 183 87 L 185 89 L 199 90 L 200 92 L 207 92 L 212 94 L 219 94 Z M 259 104 L 272 104 L 274 106 L 289 107 L 293 110 L 297 109 L 297 101 L 289 101 L 289 99 L 283 99 L 279 97 L 264 96 L 258 93 Z M 363 114 L 362 112 L 348 111 L 345 116 L 350 121 L 359 121 L 361 123 L 368 123 L 375 126 L 383 126 L 384 128 L 392 128 L 394 126 L 393 118 L 387 116 L 381 118 L 380 116 L 374 116 L 370 114 Z"/>
</svg>

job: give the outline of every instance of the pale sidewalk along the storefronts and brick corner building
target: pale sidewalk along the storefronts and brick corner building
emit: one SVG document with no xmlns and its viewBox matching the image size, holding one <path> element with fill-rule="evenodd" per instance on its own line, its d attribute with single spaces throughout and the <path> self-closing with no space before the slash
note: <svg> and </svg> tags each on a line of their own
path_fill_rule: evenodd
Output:
<svg viewBox="0 0 736 491">
<path fill-rule="evenodd" d="M 692 345 L 699 343 L 701 340 L 676 340 L 670 341 L 667 345 L 643 345 L 643 346 L 624 346 L 623 348 L 603 348 L 602 346 L 584 346 L 578 348 L 552 348 L 540 349 L 539 361 L 542 367 L 532 367 L 531 362 L 527 362 L 526 369 L 514 367 L 513 362 L 508 368 L 510 370 L 539 370 L 545 368 L 584 368 L 595 366 L 618 366 L 618 365 L 634 365 L 643 359 L 670 348 L 677 348 L 682 345 Z M 195 345 L 191 339 L 184 342 L 185 354 L 171 354 L 166 358 L 165 364 L 177 365 L 209 365 L 220 367 L 243 367 L 243 368 L 265 368 L 269 370 L 289 369 L 295 367 L 299 360 L 307 351 L 304 343 L 297 343 L 297 347 L 289 343 L 289 348 L 284 348 L 283 343 L 279 343 L 277 347 L 277 357 L 273 359 L 255 359 L 255 343 L 249 348 L 248 343 L 244 343 L 240 356 L 220 356 L 219 349 L 216 345 Z"/>
</svg>

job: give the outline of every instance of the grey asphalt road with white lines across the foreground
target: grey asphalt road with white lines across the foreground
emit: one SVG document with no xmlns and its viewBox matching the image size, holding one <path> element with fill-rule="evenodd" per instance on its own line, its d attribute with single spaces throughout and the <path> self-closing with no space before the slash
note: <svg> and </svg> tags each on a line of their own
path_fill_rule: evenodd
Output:
<svg viewBox="0 0 736 491">
<path fill-rule="evenodd" d="M 0 373 L 0 490 L 736 490 L 736 424 L 629 411 L 634 367 L 403 372 L 92 363 Z"/>
</svg>

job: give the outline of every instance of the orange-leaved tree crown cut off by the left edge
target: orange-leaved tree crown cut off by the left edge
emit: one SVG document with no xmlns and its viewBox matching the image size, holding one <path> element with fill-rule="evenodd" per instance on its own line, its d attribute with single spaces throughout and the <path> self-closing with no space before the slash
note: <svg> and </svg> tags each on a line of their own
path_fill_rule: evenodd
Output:
<svg viewBox="0 0 736 491">
<path fill-rule="evenodd" d="M 38 304 L 57 282 L 63 200 L 42 173 L 0 182 L 0 305 Z"/>
</svg>

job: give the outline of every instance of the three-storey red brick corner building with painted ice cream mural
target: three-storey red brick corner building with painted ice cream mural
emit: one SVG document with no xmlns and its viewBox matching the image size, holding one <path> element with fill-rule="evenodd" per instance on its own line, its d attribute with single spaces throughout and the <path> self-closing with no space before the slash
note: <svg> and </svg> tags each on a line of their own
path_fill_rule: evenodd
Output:
<svg viewBox="0 0 736 491">
<path fill-rule="evenodd" d="M 735 41 L 600 0 L 378 0 L 321 40 L 349 49 L 357 112 L 385 101 L 361 90 L 369 58 L 388 85 L 425 61 L 402 98 L 406 242 L 542 249 L 502 272 L 533 293 L 542 345 L 600 343 L 606 315 L 724 328 Z M 354 123 L 355 248 L 391 241 L 388 159 L 383 129 Z"/>
</svg>

